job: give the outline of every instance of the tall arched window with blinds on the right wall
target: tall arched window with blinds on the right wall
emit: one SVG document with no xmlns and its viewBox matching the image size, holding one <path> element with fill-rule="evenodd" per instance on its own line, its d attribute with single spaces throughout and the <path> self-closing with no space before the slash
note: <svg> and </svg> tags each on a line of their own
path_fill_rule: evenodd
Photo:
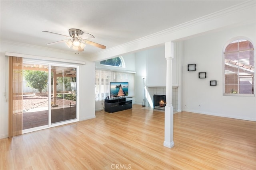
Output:
<svg viewBox="0 0 256 170">
<path fill-rule="evenodd" d="M 224 95 L 254 94 L 254 47 L 246 39 L 227 45 L 224 51 Z"/>
</svg>

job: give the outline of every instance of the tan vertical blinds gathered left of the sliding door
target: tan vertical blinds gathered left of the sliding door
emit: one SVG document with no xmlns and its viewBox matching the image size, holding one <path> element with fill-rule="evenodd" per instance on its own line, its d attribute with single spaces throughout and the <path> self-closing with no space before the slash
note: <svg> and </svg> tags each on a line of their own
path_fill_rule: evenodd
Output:
<svg viewBox="0 0 256 170">
<path fill-rule="evenodd" d="M 22 58 L 9 57 L 9 137 L 22 134 Z"/>
</svg>

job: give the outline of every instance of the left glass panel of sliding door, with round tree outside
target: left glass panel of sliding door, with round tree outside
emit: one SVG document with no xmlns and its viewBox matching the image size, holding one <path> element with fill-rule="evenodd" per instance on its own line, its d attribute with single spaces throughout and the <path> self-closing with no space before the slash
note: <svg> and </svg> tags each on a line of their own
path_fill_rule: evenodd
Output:
<svg viewBox="0 0 256 170">
<path fill-rule="evenodd" d="M 48 65 L 23 63 L 22 129 L 48 125 Z"/>
</svg>

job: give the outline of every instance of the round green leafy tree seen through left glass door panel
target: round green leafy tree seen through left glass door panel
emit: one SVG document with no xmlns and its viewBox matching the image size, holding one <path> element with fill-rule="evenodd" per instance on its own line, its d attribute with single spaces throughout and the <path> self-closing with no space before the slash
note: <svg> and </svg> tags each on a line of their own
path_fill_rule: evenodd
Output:
<svg viewBox="0 0 256 170">
<path fill-rule="evenodd" d="M 38 70 L 24 70 L 24 78 L 28 86 L 37 89 L 40 93 L 48 84 L 48 72 Z"/>
</svg>

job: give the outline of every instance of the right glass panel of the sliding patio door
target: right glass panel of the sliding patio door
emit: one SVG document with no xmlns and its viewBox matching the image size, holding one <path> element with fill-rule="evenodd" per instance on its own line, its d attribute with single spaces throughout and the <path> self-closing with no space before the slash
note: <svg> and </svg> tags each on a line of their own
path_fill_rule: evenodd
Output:
<svg viewBox="0 0 256 170">
<path fill-rule="evenodd" d="M 51 74 L 51 123 L 76 119 L 76 67 L 54 65 Z"/>
</svg>

